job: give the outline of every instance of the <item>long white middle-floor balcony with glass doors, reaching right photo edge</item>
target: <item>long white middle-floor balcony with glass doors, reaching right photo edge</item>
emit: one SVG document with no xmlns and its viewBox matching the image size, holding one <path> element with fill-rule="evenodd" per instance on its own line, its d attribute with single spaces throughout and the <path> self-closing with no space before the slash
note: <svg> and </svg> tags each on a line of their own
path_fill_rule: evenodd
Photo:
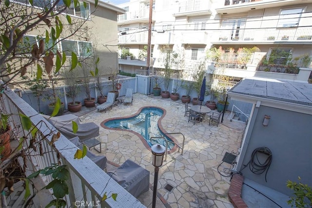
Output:
<svg viewBox="0 0 312 208">
<path fill-rule="evenodd" d="M 219 31 L 213 44 L 312 44 L 312 27 L 258 28 Z"/>
</svg>

